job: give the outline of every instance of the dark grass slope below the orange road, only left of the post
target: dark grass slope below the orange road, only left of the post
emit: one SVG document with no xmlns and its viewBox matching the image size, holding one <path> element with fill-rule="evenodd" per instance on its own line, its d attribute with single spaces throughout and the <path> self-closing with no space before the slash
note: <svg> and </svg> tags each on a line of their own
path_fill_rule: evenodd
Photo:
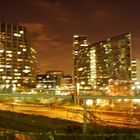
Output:
<svg viewBox="0 0 140 140">
<path fill-rule="evenodd" d="M 10 111 L 0 111 L 0 127 L 21 132 L 54 132 L 61 129 L 65 131 L 74 131 L 75 129 L 78 132 L 82 131 L 79 123 Z"/>
</svg>

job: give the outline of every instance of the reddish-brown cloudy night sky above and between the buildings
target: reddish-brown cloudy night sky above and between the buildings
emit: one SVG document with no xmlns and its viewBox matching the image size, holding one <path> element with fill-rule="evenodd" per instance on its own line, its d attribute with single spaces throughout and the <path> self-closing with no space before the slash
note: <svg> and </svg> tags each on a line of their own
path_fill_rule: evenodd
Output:
<svg viewBox="0 0 140 140">
<path fill-rule="evenodd" d="M 0 0 L 0 20 L 27 27 L 42 72 L 72 73 L 74 34 L 94 43 L 130 32 L 140 58 L 140 0 Z"/>
</svg>

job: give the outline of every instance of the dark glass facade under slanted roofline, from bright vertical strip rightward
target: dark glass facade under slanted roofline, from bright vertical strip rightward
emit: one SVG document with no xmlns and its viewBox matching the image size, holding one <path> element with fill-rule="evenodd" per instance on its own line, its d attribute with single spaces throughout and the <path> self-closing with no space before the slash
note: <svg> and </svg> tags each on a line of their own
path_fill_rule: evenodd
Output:
<svg viewBox="0 0 140 140">
<path fill-rule="evenodd" d="M 107 87 L 110 82 L 130 83 L 131 35 L 129 33 L 108 38 L 90 47 L 92 50 L 91 55 L 95 56 L 95 58 L 91 59 L 91 64 L 95 69 L 94 72 L 91 69 L 91 77 L 95 77 L 96 75 L 96 78 L 91 78 L 91 80 L 94 81 L 93 85 L 98 91 L 107 92 Z M 94 64 L 95 59 L 96 63 Z"/>
</svg>

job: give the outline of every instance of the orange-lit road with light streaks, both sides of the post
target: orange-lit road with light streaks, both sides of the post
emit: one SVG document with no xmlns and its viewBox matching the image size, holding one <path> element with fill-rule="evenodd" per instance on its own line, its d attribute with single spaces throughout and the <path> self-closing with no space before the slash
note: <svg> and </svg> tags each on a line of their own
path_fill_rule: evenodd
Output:
<svg viewBox="0 0 140 140">
<path fill-rule="evenodd" d="M 1 103 L 0 110 L 10 110 L 25 114 L 35 114 L 50 118 L 60 118 L 83 123 L 83 109 L 75 107 L 48 107 L 45 105 Z M 87 111 L 87 122 L 117 127 L 140 129 L 140 120 L 132 114 L 111 111 Z"/>
</svg>

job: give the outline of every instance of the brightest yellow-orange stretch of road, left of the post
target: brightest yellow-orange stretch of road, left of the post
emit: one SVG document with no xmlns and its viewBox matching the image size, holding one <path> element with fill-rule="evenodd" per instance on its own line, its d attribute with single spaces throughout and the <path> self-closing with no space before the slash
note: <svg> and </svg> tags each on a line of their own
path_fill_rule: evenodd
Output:
<svg viewBox="0 0 140 140">
<path fill-rule="evenodd" d="M 50 118 L 60 118 L 80 123 L 83 122 L 81 114 L 75 114 L 63 108 L 48 107 L 45 105 L 1 103 L 0 110 L 9 110 L 18 113 L 42 115 L 48 116 Z"/>
</svg>

